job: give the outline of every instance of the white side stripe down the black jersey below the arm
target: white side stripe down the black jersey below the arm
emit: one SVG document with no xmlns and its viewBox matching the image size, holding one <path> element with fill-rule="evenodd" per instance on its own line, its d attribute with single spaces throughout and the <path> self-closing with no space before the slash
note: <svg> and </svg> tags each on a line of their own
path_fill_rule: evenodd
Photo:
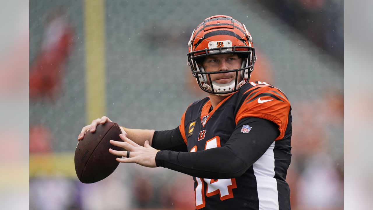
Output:
<svg viewBox="0 0 373 210">
<path fill-rule="evenodd" d="M 263 156 L 253 164 L 254 175 L 257 180 L 259 209 L 278 210 L 277 181 L 275 177 L 275 142 L 264 152 Z"/>
</svg>

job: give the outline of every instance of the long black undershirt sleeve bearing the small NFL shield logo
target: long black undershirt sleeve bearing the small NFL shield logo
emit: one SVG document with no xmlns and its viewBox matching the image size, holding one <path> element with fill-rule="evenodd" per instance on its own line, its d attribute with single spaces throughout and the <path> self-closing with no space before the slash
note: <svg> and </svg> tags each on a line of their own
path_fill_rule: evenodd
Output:
<svg viewBox="0 0 373 210">
<path fill-rule="evenodd" d="M 242 133 L 243 125 L 249 133 Z M 278 126 L 269 120 L 248 117 L 238 122 L 224 146 L 197 152 L 159 151 L 157 166 L 208 179 L 237 178 L 255 163 L 279 135 Z"/>
</svg>

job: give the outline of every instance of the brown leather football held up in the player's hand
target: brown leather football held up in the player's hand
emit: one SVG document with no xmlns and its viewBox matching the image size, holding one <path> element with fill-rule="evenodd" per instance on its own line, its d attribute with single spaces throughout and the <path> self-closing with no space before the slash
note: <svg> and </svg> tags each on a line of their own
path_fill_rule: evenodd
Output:
<svg viewBox="0 0 373 210">
<path fill-rule="evenodd" d="M 109 148 L 123 150 L 110 144 L 110 139 L 122 141 L 117 123 L 99 124 L 94 133 L 87 132 L 75 149 L 75 172 L 82 183 L 94 183 L 105 179 L 114 172 L 119 162 Z"/>
</svg>

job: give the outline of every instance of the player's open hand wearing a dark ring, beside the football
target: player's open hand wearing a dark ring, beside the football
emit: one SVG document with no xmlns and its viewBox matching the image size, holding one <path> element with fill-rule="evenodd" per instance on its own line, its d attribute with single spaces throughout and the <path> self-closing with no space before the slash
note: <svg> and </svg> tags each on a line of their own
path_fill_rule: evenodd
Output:
<svg viewBox="0 0 373 210">
<path fill-rule="evenodd" d="M 110 140 L 110 143 L 112 145 L 122 147 L 126 151 L 116 151 L 113 149 L 109 149 L 109 152 L 113 155 L 127 157 L 127 153 L 129 151 L 129 157 L 128 158 L 116 158 L 118 162 L 137 163 L 141 166 L 157 167 L 156 154 L 159 150 L 151 147 L 149 145 L 148 140 L 145 141 L 144 146 L 140 146 L 137 143 L 133 142 L 131 139 L 127 138 L 126 133 L 124 135 L 120 134 L 119 137 L 120 139 L 123 140 L 123 142 Z"/>
</svg>

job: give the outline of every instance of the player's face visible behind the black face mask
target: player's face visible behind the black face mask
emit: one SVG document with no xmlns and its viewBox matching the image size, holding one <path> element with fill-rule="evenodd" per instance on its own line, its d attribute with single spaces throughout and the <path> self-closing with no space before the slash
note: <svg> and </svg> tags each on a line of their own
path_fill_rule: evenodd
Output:
<svg viewBox="0 0 373 210">
<path fill-rule="evenodd" d="M 241 68 L 241 64 L 242 58 L 239 58 L 237 54 L 208 55 L 202 62 L 202 66 L 206 72 L 238 69 Z M 229 83 L 236 78 L 236 72 L 210 75 L 211 80 L 219 84 Z M 206 75 L 206 77 L 208 76 Z M 240 72 L 238 73 L 237 78 L 240 78 Z M 207 83 L 209 84 L 210 80 L 207 80 Z"/>
</svg>

